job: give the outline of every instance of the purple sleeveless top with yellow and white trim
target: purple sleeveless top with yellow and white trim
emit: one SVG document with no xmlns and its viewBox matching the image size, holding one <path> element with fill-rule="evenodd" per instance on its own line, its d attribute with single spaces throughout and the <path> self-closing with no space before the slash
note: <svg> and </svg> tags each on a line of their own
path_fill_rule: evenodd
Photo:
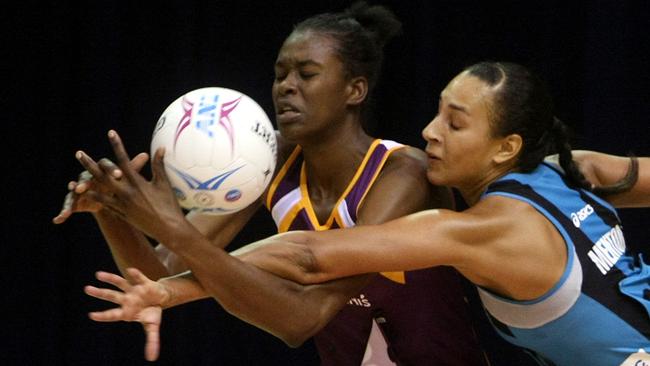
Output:
<svg viewBox="0 0 650 366">
<path fill-rule="evenodd" d="M 324 223 L 307 191 L 297 146 L 266 197 L 279 232 L 352 227 L 390 154 L 403 145 L 375 140 Z M 322 365 L 485 365 L 459 275 L 447 267 L 382 273 L 314 336 Z"/>
</svg>

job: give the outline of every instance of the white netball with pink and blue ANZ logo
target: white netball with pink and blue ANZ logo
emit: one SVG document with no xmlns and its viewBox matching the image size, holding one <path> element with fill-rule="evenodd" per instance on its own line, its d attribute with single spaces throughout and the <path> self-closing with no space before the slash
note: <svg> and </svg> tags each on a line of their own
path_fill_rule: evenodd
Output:
<svg viewBox="0 0 650 366">
<path fill-rule="evenodd" d="M 228 214 L 264 192 L 275 170 L 271 121 L 250 97 L 210 87 L 190 91 L 163 112 L 151 140 L 165 147 L 165 170 L 180 205 Z"/>
</svg>

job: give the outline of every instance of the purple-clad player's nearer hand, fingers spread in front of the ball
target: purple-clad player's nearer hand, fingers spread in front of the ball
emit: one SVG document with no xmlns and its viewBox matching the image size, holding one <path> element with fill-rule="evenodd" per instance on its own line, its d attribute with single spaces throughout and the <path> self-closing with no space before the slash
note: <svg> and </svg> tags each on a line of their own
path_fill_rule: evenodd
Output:
<svg viewBox="0 0 650 366">
<path fill-rule="evenodd" d="M 102 159 L 95 162 L 83 151 L 77 159 L 94 178 L 97 189 L 85 194 L 110 209 L 148 236 L 165 242 L 174 233 L 174 224 L 184 222 L 185 216 L 174 196 L 163 163 L 164 150 L 156 151 L 151 162 L 152 178 L 146 180 L 130 164 L 122 140 L 111 130 L 108 139 L 116 162 Z M 116 177 L 115 171 L 121 173 Z"/>
</svg>

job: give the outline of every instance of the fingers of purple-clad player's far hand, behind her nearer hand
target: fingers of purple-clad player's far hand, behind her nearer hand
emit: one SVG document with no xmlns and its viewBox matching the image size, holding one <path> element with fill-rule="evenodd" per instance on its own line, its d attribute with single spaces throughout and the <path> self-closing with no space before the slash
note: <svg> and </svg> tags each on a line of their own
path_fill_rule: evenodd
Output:
<svg viewBox="0 0 650 366">
<path fill-rule="evenodd" d="M 140 153 L 129 162 L 129 165 L 134 171 L 139 172 L 148 160 L 149 155 L 147 153 Z M 122 171 L 119 169 L 114 169 L 112 174 L 115 179 L 122 177 Z M 101 203 L 90 199 L 84 194 L 93 189 L 98 189 L 94 184 L 93 176 L 90 172 L 84 170 L 79 174 L 76 181 L 73 180 L 68 183 L 68 194 L 63 199 L 63 207 L 59 214 L 52 219 L 52 222 L 62 224 L 75 212 L 98 212 L 101 210 L 103 208 Z"/>
</svg>

